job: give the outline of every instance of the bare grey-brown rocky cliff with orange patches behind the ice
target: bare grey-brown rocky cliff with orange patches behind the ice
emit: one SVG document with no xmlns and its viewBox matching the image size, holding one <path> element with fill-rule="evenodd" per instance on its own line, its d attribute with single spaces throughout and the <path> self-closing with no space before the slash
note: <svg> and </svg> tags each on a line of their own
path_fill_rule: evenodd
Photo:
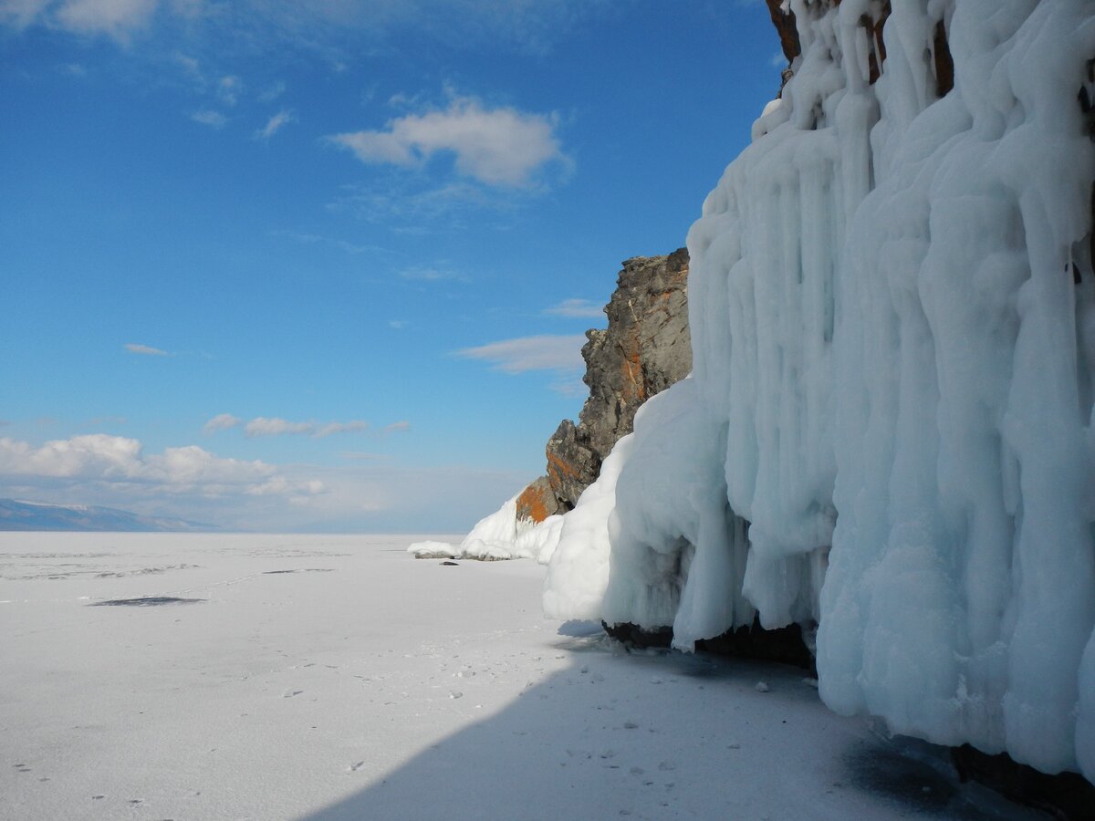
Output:
<svg viewBox="0 0 1095 821">
<path fill-rule="evenodd" d="M 521 494 L 519 517 L 541 521 L 572 510 L 612 446 L 632 431 L 639 405 L 692 370 L 688 251 L 624 261 L 604 312 L 608 328 L 587 331 L 581 349 L 589 398 L 578 424 L 564 419 L 548 440 L 548 475 Z"/>
</svg>

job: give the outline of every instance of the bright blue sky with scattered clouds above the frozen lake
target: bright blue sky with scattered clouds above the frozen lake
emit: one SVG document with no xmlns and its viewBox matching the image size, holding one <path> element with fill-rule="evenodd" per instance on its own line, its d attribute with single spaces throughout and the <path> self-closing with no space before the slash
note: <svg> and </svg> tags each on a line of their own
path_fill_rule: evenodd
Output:
<svg viewBox="0 0 1095 821">
<path fill-rule="evenodd" d="M 748 0 L 0 0 L 0 496 L 469 529 L 777 51 Z"/>
</svg>

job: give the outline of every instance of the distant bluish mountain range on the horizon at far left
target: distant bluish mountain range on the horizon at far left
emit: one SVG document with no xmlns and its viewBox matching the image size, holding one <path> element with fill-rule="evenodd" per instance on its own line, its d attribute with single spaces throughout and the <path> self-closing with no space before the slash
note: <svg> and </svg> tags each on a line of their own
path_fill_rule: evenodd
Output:
<svg viewBox="0 0 1095 821">
<path fill-rule="evenodd" d="M 220 530 L 185 519 L 138 516 L 128 510 L 92 505 L 53 505 L 45 501 L 0 499 L 0 531 L 100 531 L 187 533 Z"/>
</svg>

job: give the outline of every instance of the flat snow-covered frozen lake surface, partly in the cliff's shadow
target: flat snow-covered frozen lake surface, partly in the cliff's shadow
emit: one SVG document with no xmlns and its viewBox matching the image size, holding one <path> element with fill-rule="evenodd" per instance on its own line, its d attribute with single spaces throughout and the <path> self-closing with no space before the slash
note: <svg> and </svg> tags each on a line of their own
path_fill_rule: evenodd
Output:
<svg viewBox="0 0 1095 821">
<path fill-rule="evenodd" d="M 0 534 L 0 817 L 1039 818 L 422 539 Z"/>
</svg>

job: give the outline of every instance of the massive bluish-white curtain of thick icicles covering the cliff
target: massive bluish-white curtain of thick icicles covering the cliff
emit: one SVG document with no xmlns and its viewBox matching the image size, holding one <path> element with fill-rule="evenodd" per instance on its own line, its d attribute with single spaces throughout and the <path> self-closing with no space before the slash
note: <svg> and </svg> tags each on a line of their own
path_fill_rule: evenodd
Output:
<svg viewBox="0 0 1095 821">
<path fill-rule="evenodd" d="M 794 77 L 689 234 L 693 378 L 545 608 L 817 622 L 833 709 L 1095 778 L 1095 3 L 785 5 Z"/>
</svg>

